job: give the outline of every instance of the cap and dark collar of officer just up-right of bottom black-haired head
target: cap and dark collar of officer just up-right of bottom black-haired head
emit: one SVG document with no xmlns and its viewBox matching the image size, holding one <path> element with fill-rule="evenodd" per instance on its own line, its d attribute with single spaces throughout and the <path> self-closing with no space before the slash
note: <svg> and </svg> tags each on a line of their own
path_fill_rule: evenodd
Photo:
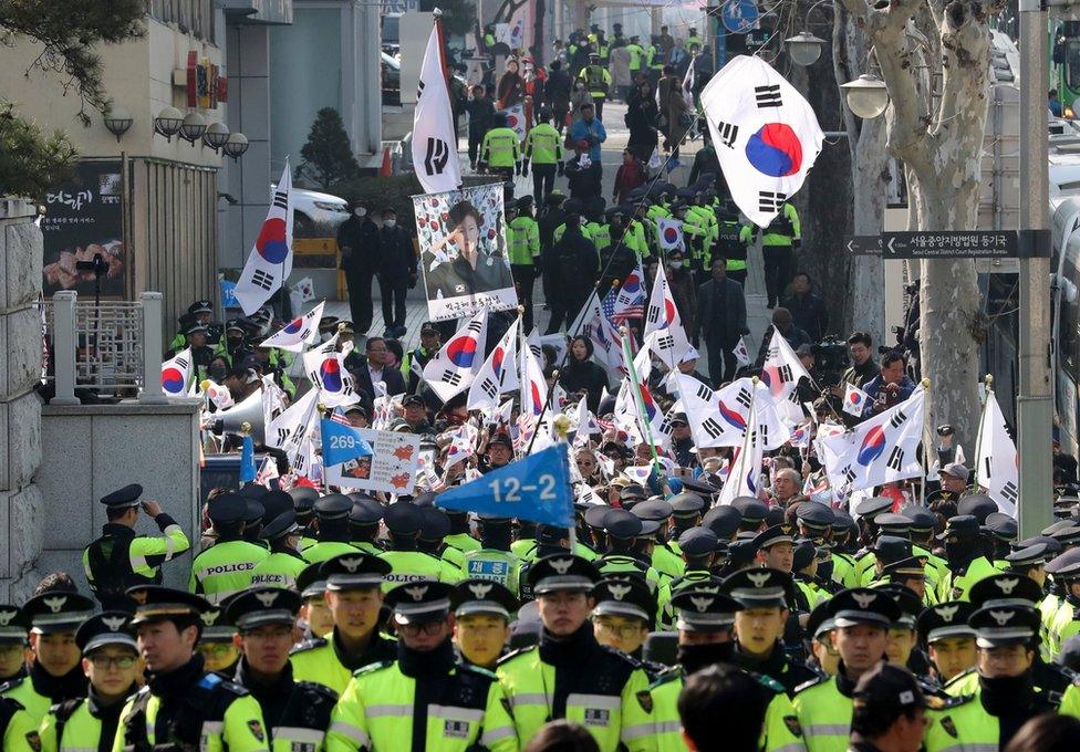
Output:
<svg viewBox="0 0 1080 752">
<path fill-rule="evenodd" d="M 742 608 L 786 609 L 795 589 L 790 574 L 768 567 L 740 570 L 724 579 L 724 592 Z M 750 655 L 736 644 L 734 660 L 742 670 L 762 673 L 781 685 L 789 697 L 801 685 L 818 678 L 817 671 L 791 660 L 779 639 L 766 656 Z"/>
</svg>

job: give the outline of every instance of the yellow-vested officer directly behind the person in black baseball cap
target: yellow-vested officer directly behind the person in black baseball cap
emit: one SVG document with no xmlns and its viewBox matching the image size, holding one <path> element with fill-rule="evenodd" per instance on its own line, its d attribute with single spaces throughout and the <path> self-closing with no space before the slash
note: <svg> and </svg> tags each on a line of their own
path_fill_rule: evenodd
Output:
<svg viewBox="0 0 1080 752">
<path fill-rule="evenodd" d="M 889 627 L 900 617 L 900 607 L 886 593 L 866 587 L 842 591 L 828 603 L 839 671 L 799 687 L 792 699 L 808 752 L 848 749 L 855 685 L 885 657 Z"/>
</svg>

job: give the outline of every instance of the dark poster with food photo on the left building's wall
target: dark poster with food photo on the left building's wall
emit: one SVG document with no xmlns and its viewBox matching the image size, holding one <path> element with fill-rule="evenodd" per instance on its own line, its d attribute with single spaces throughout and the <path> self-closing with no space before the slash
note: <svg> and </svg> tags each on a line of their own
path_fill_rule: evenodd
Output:
<svg viewBox="0 0 1080 752">
<path fill-rule="evenodd" d="M 120 159 L 83 159 L 72 179 L 45 192 L 41 220 L 42 292 L 61 290 L 102 297 L 127 297 L 124 243 L 124 180 Z M 94 257 L 101 255 L 97 271 Z"/>
</svg>

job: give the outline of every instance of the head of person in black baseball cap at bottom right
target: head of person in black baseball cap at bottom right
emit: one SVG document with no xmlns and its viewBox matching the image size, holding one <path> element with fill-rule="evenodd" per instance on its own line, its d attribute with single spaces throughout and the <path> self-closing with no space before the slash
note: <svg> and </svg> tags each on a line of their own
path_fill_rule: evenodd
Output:
<svg viewBox="0 0 1080 752">
<path fill-rule="evenodd" d="M 926 698 L 903 669 L 881 664 L 852 693 L 849 752 L 917 752 L 926 729 Z"/>
</svg>

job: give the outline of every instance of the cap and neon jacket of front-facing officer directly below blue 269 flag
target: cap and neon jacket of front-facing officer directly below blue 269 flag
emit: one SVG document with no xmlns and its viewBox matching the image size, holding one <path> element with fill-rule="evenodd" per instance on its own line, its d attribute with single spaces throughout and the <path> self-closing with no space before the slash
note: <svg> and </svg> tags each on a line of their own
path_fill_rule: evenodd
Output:
<svg viewBox="0 0 1080 752">
<path fill-rule="evenodd" d="M 319 572 L 325 578 L 328 591 L 367 591 L 383 584 L 384 577 L 390 574 L 390 566 L 377 556 L 355 552 L 323 562 Z M 304 640 L 293 648 L 289 660 L 297 681 L 316 681 L 340 696 L 354 671 L 368 664 L 390 660 L 394 651 L 394 640 L 383 637 L 376 625 L 372 628 L 364 652 L 350 655 L 334 626 L 326 637 Z"/>
</svg>

